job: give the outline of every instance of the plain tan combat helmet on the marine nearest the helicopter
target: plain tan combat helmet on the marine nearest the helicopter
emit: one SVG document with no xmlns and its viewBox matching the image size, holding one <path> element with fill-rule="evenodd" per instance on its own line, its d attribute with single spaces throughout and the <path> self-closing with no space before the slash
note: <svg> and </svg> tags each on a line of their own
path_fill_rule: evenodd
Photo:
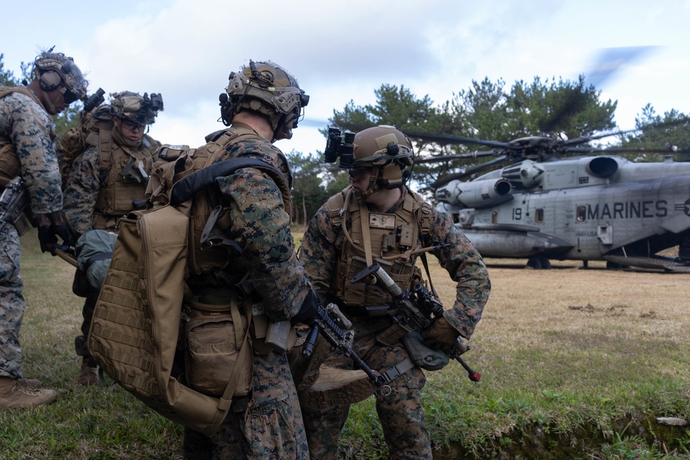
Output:
<svg viewBox="0 0 690 460">
<path fill-rule="evenodd" d="M 380 125 L 355 134 L 351 171 L 371 168 L 366 194 L 381 188 L 402 187 L 409 174 L 403 170 L 414 163 L 410 139 L 393 126 Z M 352 173 L 352 172 L 351 172 Z"/>
</svg>

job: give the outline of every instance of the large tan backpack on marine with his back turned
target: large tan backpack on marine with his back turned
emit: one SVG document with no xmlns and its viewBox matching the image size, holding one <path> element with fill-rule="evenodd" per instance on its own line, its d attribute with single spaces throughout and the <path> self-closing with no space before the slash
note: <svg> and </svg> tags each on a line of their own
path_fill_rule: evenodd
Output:
<svg viewBox="0 0 690 460">
<path fill-rule="evenodd" d="M 200 188 L 208 187 L 204 178 L 215 180 L 239 168 L 273 167 L 256 159 L 230 159 L 211 166 L 213 174 L 200 170 L 202 174 L 184 177 L 179 173 L 190 171 L 191 166 L 192 161 L 183 156 L 159 166 L 154 173 L 157 174 L 155 183 L 177 181 L 175 186 L 186 190 L 184 194 L 173 193 L 172 201 L 177 206 L 158 204 L 121 219 L 110 267 L 93 314 L 88 349 L 106 374 L 147 406 L 176 423 L 211 436 L 225 419 L 233 396 L 250 390 L 253 352 L 248 330 L 252 311 L 247 302 L 229 311 L 208 312 L 186 323 L 187 328 L 190 325 L 203 328 L 206 324 L 213 330 L 217 321 L 224 321 L 231 323 L 234 330 L 220 353 L 217 349 L 210 350 L 211 355 L 216 355 L 212 358 L 221 360 L 215 362 L 223 363 L 215 368 L 226 371 L 225 388 L 216 386 L 214 390 L 199 381 L 195 388 L 203 388 L 204 393 L 191 388 L 185 379 L 189 369 L 184 370 L 184 354 L 190 347 L 179 347 L 183 303 L 191 297 L 185 283 L 191 198 Z M 180 176 L 188 180 L 179 180 Z M 203 335 L 200 343 L 191 347 L 202 354 Z M 187 334 L 186 340 L 190 337 Z M 201 369 L 198 374 L 203 379 L 204 373 L 212 370 Z"/>
</svg>

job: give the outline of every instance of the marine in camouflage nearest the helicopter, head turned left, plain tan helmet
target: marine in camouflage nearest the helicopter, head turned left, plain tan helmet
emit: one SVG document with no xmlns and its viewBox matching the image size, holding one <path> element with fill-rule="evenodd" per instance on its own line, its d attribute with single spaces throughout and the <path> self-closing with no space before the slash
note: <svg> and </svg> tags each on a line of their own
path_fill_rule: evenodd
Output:
<svg viewBox="0 0 690 460">
<path fill-rule="evenodd" d="M 406 177 L 402 174 L 402 169 L 411 166 L 411 163 L 411 143 L 395 128 L 379 126 L 357 133 L 354 139 L 354 162 L 346 165 L 351 166 L 352 185 L 318 210 L 309 223 L 299 250 L 299 261 L 304 264 L 319 294 L 326 301 L 337 303 L 353 322 L 353 349 L 371 368 L 381 373 L 407 359 L 408 351 L 400 340 L 392 344 L 382 343 L 384 331 L 391 326 L 390 317 L 368 316 L 366 313 L 366 306 L 381 305 L 385 301 L 374 301 L 377 294 L 365 288 L 364 283 L 353 285 L 349 282 L 355 272 L 371 263 L 364 261 L 367 245 L 362 243 L 362 239 L 366 238 L 366 233 L 357 229 L 362 227 L 361 223 L 382 220 L 382 217 L 395 217 L 395 226 L 391 223 L 389 227 L 393 230 L 400 224 L 400 219 L 402 222 L 404 219 L 411 219 L 410 225 L 412 228 L 417 227 L 418 238 L 418 241 L 411 244 L 411 249 L 435 247 L 431 254 L 437 257 L 451 279 L 457 282 L 457 297 L 453 307 L 444 312 L 444 317 L 435 322 L 433 329 L 423 334 L 425 341 L 433 348 L 450 345 L 458 334 L 469 339 L 480 321 L 491 290 L 486 266 L 470 241 L 453 226 L 446 214 L 423 203 L 417 194 L 404 186 Z M 340 206 L 334 206 L 333 203 Z M 415 204 L 411 206 L 411 203 Z M 414 208 L 414 211 L 406 212 L 402 209 L 405 207 Z M 371 214 L 365 219 L 363 215 L 359 215 L 362 214 L 360 211 L 371 211 Z M 353 213 L 361 217 L 357 226 L 353 225 Z M 403 232 L 410 230 L 405 225 L 402 226 Z M 377 229 L 373 224 L 371 227 L 373 234 Z M 348 234 L 351 234 L 351 239 L 359 248 L 364 246 L 365 249 L 353 250 L 347 239 Z M 378 233 L 371 240 L 380 239 L 381 236 Z M 400 241 L 400 237 L 397 241 Z M 386 257 L 388 263 L 382 263 L 382 266 L 402 289 L 411 288 L 412 281 L 420 281 L 421 273 L 415 274 L 415 270 L 411 269 L 416 256 L 404 254 L 407 248 L 401 250 L 402 258 L 395 259 L 392 257 L 395 255 L 395 248 L 391 247 L 384 254 L 377 254 L 375 241 L 372 246 L 373 253 L 370 257 L 373 261 L 382 255 L 391 256 Z M 381 246 L 379 243 L 378 248 Z M 391 246 L 395 244 L 391 243 Z M 382 252 L 381 249 L 379 251 Z M 353 261 L 357 258 L 359 262 Z M 353 267 L 356 263 L 361 265 Z M 388 268 L 391 263 L 393 266 Z M 404 282 L 407 284 L 402 284 Z M 351 369 L 352 361 L 342 354 L 334 353 L 326 359 L 324 365 Z M 391 459 L 432 458 L 421 404 L 421 390 L 425 382 L 422 369 L 412 367 L 389 383 L 390 394 L 376 394 L 376 410 Z M 347 404 L 332 404 L 316 409 L 303 406 L 313 459 L 338 458 L 337 442 L 348 410 Z"/>
</svg>

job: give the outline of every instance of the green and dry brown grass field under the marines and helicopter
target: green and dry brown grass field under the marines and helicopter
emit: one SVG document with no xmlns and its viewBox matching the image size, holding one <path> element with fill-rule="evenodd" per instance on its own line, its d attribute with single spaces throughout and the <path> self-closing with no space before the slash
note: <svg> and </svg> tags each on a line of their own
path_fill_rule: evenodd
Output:
<svg viewBox="0 0 690 460">
<path fill-rule="evenodd" d="M 73 269 L 23 237 L 23 370 L 57 403 L 0 410 L 1 459 L 178 459 L 181 430 L 118 386 L 75 383 Z M 690 459 L 690 274 L 490 259 L 493 289 L 466 361 L 428 372 L 438 459 Z M 432 262 L 444 305 L 454 286 Z M 373 398 L 353 406 L 342 457 L 386 458 Z"/>
</svg>

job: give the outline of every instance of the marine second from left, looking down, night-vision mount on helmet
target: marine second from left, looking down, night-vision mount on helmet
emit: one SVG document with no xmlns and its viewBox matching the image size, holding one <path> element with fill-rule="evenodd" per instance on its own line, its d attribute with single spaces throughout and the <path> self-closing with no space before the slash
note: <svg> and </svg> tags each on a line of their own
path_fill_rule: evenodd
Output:
<svg viewBox="0 0 690 460">
<path fill-rule="evenodd" d="M 144 132 L 155 122 L 159 110 L 163 110 L 160 94 L 142 97 L 124 91 L 112 94 L 109 105 L 82 114 L 91 120 L 93 128 L 85 139 L 86 151 L 78 155 L 70 152 L 75 159 L 64 191 L 65 217 L 76 238 L 89 230 L 115 231 L 122 216 L 144 207 L 153 155 L 160 146 Z M 77 133 L 80 129 L 72 128 Z M 66 144 L 63 141 L 61 144 Z M 99 289 L 77 269 L 72 290 L 86 297 L 81 335 L 75 338 L 77 355 L 82 357 L 77 383 L 95 385 L 98 367 L 88 356 L 86 341 Z"/>
</svg>

